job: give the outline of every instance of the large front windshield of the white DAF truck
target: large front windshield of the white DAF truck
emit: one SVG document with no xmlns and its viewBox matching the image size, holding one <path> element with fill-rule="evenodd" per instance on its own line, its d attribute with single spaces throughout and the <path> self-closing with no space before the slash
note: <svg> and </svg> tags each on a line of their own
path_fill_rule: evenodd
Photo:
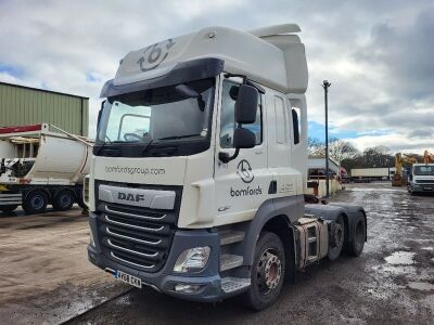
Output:
<svg viewBox="0 0 434 325">
<path fill-rule="evenodd" d="M 95 144 L 146 145 L 165 140 L 209 138 L 214 80 L 110 98 L 103 107 Z"/>
</svg>

